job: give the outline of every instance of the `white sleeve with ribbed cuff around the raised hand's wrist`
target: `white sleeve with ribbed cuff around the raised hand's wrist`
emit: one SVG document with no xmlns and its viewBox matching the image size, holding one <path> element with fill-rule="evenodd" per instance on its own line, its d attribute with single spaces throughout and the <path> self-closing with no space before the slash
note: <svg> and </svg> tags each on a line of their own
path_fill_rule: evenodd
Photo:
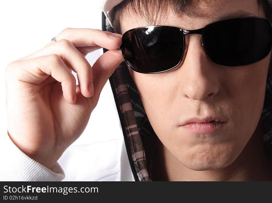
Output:
<svg viewBox="0 0 272 203">
<path fill-rule="evenodd" d="M 0 147 L 0 181 L 61 181 L 65 174 L 56 162 L 50 170 L 23 153 L 10 139 L 2 135 Z"/>
</svg>

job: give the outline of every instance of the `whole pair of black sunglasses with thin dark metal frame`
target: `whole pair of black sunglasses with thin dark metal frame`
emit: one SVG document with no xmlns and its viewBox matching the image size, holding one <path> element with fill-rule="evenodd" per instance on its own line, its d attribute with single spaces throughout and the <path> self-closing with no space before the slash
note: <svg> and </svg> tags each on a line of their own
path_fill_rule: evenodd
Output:
<svg viewBox="0 0 272 203">
<path fill-rule="evenodd" d="M 257 63 L 269 55 L 272 25 L 262 17 L 217 21 L 196 30 L 171 26 L 146 26 L 126 31 L 122 37 L 125 63 L 139 73 L 160 73 L 177 67 L 184 56 L 185 36 L 202 35 L 210 60 L 234 67 Z"/>
</svg>

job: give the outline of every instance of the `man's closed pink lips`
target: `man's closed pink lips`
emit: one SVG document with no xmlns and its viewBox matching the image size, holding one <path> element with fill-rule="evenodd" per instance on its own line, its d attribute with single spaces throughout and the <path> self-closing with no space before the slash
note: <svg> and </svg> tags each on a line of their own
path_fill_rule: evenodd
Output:
<svg viewBox="0 0 272 203">
<path fill-rule="evenodd" d="M 227 121 L 219 117 L 191 118 L 180 126 L 192 133 L 212 133 L 221 128 Z"/>
</svg>

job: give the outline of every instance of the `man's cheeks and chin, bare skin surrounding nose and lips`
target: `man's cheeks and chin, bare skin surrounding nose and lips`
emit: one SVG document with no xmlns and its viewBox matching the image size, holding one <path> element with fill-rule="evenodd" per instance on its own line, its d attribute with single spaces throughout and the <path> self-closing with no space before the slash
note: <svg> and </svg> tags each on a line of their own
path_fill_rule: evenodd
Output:
<svg viewBox="0 0 272 203">
<path fill-rule="evenodd" d="M 218 74 L 219 92 L 209 104 L 185 98 L 181 79 L 171 71 L 154 75 L 131 71 L 131 75 L 159 140 L 183 165 L 200 170 L 233 162 L 254 133 L 263 108 L 268 64 L 266 59 L 247 67 L 224 67 Z M 196 137 L 176 126 L 205 105 L 229 119 L 220 136 Z"/>
</svg>

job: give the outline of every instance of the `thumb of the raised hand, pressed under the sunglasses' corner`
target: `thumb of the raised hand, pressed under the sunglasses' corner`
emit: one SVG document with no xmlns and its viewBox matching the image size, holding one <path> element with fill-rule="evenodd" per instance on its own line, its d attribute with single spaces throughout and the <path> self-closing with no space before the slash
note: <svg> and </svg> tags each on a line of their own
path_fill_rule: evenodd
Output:
<svg viewBox="0 0 272 203">
<path fill-rule="evenodd" d="M 120 63 L 124 61 L 121 50 L 108 50 L 93 64 L 94 98 L 99 95 L 109 77 Z"/>
</svg>

